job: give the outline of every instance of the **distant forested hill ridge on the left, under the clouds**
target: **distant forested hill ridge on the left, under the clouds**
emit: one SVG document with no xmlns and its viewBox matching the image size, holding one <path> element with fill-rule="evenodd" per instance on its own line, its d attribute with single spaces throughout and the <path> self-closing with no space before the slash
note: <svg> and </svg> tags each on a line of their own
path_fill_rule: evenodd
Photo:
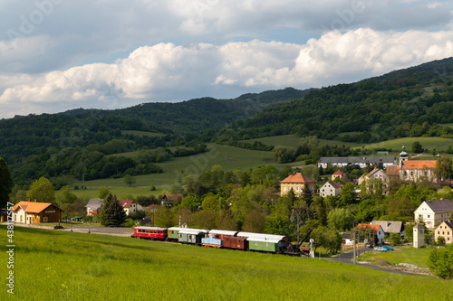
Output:
<svg viewBox="0 0 453 301">
<path fill-rule="evenodd" d="M 165 146 L 198 145 L 195 148 L 200 151 L 203 148 L 199 144 L 211 141 L 218 129 L 266 108 L 301 99 L 308 92 L 310 89 L 287 88 L 246 94 L 237 99 L 144 103 L 116 110 L 78 108 L 60 114 L 2 119 L 0 156 L 10 165 L 14 178 L 26 182 L 39 175 L 79 176 L 83 168 L 89 169 L 93 162 L 100 162 L 101 155 Z M 81 161 L 82 157 L 94 153 L 98 157 L 90 164 Z M 70 157 L 72 160 L 68 160 Z M 72 169 L 79 164 L 82 167 L 75 173 Z M 100 165 L 96 170 L 101 168 Z M 110 175 L 93 174 L 92 178 Z"/>
</svg>

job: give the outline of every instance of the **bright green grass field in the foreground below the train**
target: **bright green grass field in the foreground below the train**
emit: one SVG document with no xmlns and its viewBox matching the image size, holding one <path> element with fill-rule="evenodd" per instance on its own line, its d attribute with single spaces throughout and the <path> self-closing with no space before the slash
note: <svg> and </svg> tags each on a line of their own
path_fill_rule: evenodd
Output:
<svg viewBox="0 0 453 301">
<path fill-rule="evenodd" d="M 0 235 L 6 237 L 5 226 Z M 323 259 L 21 227 L 14 228 L 14 244 L 17 300 L 453 298 L 448 280 Z M 5 244 L 0 249 L 6 263 Z"/>
</svg>

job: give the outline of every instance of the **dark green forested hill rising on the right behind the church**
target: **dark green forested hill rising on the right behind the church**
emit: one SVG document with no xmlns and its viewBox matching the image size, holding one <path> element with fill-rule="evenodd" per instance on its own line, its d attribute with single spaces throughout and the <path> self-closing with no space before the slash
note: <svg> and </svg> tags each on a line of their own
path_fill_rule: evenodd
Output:
<svg viewBox="0 0 453 301">
<path fill-rule="evenodd" d="M 453 58 L 380 77 L 313 90 L 290 104 L 239 121 L 242 138 L 295 134 L 360 141 L 441 136 L 453 122 Z"/>
</svg>

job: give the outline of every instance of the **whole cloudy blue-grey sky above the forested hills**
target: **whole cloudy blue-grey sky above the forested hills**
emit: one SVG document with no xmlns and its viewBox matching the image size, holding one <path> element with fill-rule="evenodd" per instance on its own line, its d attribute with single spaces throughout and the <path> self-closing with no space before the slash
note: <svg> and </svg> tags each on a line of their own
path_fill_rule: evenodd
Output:
<svg viewBox="0 0 453 301">
<path fill-rule="evenodd" d="M 452 55 L 451 0 L 0 0 L 0 118 L 321 88 Z"/>
</svg>

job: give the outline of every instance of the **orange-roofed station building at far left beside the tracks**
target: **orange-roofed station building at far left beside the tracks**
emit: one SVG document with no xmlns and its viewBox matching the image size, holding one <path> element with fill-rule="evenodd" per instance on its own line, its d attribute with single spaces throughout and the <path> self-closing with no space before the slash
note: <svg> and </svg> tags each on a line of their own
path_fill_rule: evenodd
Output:
<svg viewBox="0 0 453 301">
<path fill-rule="evenodd" d="M 62 219 L 62 210 L 50 202 L 22 201 L 16 203 L 12 210 L 14 222 L 58 222 Z"/>
</svg>

